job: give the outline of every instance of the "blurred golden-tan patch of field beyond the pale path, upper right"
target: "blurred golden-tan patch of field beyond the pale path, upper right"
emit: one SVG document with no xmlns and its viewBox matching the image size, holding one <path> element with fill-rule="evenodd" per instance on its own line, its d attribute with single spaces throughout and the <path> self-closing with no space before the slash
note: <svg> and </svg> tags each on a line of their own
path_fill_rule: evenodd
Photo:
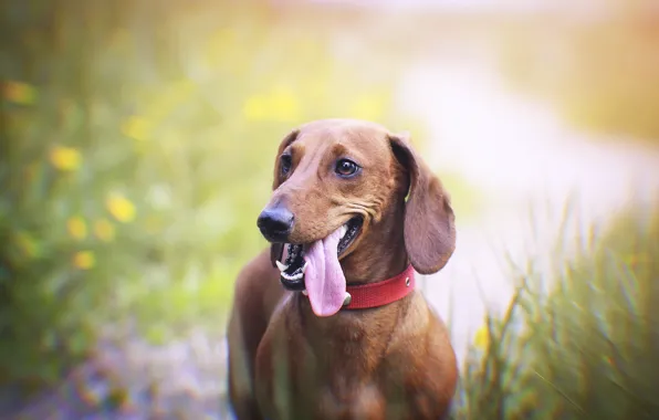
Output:
<svg viewBox="0 0 659 420">
<path fill-rule="evenodd" d="M 575 126 L 659 141 L 659 13 L 511 24 L 502 66 L 511 84 L 550 101 Z"/>
</svg>

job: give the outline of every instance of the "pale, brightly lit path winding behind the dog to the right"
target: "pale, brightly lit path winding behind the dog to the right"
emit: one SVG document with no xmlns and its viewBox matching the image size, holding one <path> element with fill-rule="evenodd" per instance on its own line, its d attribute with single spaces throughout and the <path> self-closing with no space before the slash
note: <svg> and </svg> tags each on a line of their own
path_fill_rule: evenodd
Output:
<svg viewBox="0 0 659 420">
<path fill-rule="evenodd" d="M 512 294 L 504 252 L 516 262 L 546 255 L 568 197 L 585 223 L 608 219 L 630 200 L 659 197 L 659 150 L 571 129 L 547 107 L 506 91 L 481 62 L 417 63 L 400 86 L 400 106 L 428 124 L 432 167 L 481 192 L 475 217 L 457 214 L 452 260 L 426 280 L 444 317 L 452 296 L 460 358 L 483 322 L 479 280 L 487 304 L 501 311 Z"/>
</svg>

